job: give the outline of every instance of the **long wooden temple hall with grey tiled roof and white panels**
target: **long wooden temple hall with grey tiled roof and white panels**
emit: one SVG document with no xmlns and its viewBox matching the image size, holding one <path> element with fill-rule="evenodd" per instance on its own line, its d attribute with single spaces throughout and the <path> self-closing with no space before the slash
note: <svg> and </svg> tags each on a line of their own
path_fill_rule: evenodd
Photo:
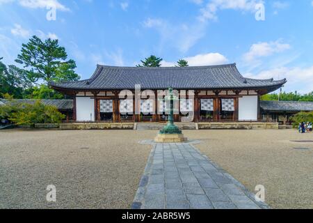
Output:
<svg viewBox="0 0 313 223">
<path fill-rule="evenodd" d="M 286 82 L 243 77 L 236 64 L 185 68 L 98 65 L 90 79 L 50 86 L 74 98 L 75 122 L 166 121 L 165 95 L 159 92 L 170 87 L 179 96 L 175 121 L 184 121 L 192 112 L 194 122 L 236 122 L 262 121 L 260 96 Z M 138 86 L 142 92 L 139 99 Z"/>
</svg>

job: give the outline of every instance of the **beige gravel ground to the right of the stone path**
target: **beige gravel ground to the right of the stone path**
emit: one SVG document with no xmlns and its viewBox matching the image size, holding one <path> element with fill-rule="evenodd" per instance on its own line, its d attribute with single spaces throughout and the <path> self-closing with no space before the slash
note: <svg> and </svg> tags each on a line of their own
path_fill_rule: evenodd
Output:
<svg viewBox="0 0 313 223">
<path fill-rule="evenodd" d="M 313 134 L 204 130 L 190 137 L 202 139 L 196 147 L 251 192 L 264 185 L 271 208 L 313 208 Z"/>
</svg>

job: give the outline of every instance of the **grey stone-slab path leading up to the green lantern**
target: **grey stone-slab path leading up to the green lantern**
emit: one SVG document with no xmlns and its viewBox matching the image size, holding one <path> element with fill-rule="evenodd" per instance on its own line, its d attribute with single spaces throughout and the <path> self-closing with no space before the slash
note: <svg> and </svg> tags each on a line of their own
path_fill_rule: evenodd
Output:
<svg viewBox="0 0 313 223">
<path fill-rule="evenodd" d="M 141 178 L 134 209 L 259 209 L 235 180 L 191 144 L 155 144 Z"/>
</svg>

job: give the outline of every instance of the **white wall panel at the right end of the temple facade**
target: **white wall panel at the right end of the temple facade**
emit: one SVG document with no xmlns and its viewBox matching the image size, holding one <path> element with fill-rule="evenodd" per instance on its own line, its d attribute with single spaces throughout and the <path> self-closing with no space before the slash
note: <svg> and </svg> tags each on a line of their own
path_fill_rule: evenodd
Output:
<svg viewBox="0 0 313 223">
<path fill-rule="evenodd" d="M 239 98 L 239 121 L 257 121 L 257 95 Z"/>
</svg>

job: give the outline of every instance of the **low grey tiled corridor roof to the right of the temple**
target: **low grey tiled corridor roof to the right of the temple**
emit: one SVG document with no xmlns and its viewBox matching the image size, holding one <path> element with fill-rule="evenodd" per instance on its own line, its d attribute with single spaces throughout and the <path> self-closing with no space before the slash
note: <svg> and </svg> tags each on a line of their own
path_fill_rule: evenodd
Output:
<svg viewBox="0 0 313 223">
<path fill-rule="evenodd" d="M 261 101 L 260 106 L 268 112 L 313 112 L 313 102 Z"/>
</svg>

